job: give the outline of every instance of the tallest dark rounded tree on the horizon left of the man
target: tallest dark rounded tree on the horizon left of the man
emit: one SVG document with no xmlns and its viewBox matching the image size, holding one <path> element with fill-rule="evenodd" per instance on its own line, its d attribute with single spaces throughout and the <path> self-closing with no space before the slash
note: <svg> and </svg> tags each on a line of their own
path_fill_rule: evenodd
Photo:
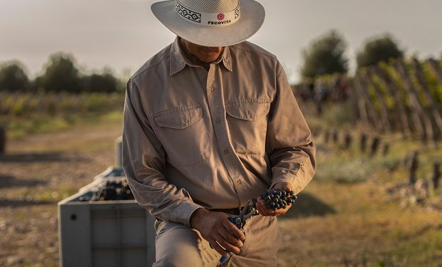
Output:
<svg viewBox="0 0 442 267">
<path fill-rule="evenodd" d="M 74 92 L 83 90 L 81 78 L 73 56 L 66 53 L 55 53 L 49 56 L 46 70 L 38 80 L 38 86 L 53 92 Z"/>
</svg>

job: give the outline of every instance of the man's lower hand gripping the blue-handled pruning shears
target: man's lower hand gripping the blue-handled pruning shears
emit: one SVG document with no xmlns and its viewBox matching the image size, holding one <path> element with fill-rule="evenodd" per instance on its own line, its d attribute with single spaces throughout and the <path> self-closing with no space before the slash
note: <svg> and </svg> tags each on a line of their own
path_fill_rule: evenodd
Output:
<svg viewBox="0 0 442 267">
<path fill-rule="evenodd" d="M 190 217 L 190 225 L 222 256 L 227 256 L 227 251 L 240 253 L 245 235 L 229 221 L 227 214 L 197 209 Z"/>
</svg>

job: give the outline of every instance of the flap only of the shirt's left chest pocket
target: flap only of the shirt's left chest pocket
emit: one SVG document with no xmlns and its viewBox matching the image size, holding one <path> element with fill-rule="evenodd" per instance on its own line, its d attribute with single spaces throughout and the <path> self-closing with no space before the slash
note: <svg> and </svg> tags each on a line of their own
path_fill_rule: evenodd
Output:
<svg viewBox="0 0 442 267">
<path fill-rule="evenodd" d="M 200 120 L 202 117 L 202 108 L 197 106 L 166 110 L 155 114 L 154 117 L 155 122 L 160 127 L 184 129 Z"/>
</svg>

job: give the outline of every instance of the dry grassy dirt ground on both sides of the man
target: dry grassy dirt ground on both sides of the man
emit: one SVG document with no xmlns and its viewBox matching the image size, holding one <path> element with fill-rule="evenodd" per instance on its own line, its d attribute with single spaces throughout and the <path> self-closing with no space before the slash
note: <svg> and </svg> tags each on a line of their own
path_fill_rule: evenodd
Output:
<svg viewBox="0 0 442 267">
<path fill-rule="evenodd" d="M 110 123 L 8 142 L 0 156 L 0 266 L 58 266 L 57 203 L 113 165 L 120 134 Z M 327 151 L 319 145 L 323 167 L 339 157 Z M 401 208 L 386 193 L 391 179 L 404 179 L 401 170 L 365 182 L 313 180 L 279 220 L 278 266 L 442 266 L 442 212 Z"/>
</svg>

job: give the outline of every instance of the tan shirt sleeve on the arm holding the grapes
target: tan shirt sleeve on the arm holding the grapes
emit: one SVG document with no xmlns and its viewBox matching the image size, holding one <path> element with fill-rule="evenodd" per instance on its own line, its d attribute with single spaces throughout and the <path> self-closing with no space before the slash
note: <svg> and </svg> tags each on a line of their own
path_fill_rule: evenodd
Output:
<svg viewBox="0 0 442 267">
<path fill-rule="evenodd" d="M 276 97 L 269 113 L 266 141 L 272 164 L 271 187 L 277 182 L 290 182 L 295 194 L 298 194 L 314 176 L 316 150 L 307 122 L 279 62 L 275 71 Z"/>
</svg>

